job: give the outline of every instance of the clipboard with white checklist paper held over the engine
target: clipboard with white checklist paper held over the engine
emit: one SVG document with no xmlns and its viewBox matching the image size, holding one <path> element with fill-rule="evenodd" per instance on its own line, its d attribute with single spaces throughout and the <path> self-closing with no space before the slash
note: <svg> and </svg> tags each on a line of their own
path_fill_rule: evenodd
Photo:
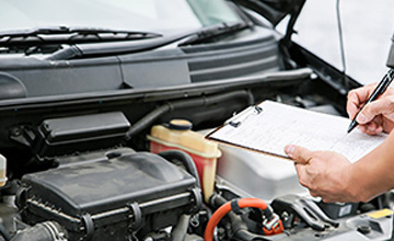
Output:
<svg viewBox="0 0 394 241">
<path fill-rule="evenodd" d="M 228 119 L 207 139 L 287 158 L 286 145 L 310 150 L 329 150 L 355 162 L 378 147 L 386 134 L 368 136 L 360 130 L 347 134 L 350 119 L 274 101 L 250 106 Z"/>
</svg>

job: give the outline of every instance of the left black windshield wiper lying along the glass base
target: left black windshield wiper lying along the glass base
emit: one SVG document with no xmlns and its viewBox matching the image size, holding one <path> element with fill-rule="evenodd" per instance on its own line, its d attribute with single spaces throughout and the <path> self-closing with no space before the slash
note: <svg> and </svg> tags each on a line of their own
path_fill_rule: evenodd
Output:
<svg viewBox="0 0 394 241">
<path fill-rule="evenodd" d="M 161 37 L 161 34 L 100 27 L 37 27 L 0 32 L 0 46 L 34 46 L 42 44 L 79 44 Z"/>
</svg>

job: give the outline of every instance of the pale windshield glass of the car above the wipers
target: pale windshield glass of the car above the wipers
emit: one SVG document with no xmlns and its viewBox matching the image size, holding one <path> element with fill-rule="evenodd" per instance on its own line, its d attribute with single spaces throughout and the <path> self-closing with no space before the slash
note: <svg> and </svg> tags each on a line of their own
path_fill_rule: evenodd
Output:
<svg viewBox="0 0 394 241">
<path fill-rule="evenodd" d="M 84 26 L 165 34 L 241 21 L 223 0 L 0 0 L 0 32 Z"/>
</svg>

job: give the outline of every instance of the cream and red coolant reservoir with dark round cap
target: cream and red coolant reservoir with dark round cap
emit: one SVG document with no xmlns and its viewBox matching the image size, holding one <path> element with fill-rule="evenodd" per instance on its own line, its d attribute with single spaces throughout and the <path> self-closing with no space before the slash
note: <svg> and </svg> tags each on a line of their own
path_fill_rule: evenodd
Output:
<svg viewBox="0 0 394 241">
<path fill-rule="evenodd" d="M 165 150 L 183 150 L 194 160 L 202 194 L 208 198 L 213 193 L 217 158 L 221 156 L 218 145 L 205 139 L 202 134 L 195 133 L 192 123 L 185 119 L 173 119 L 170 125 L 157 125 L 148 136 L 151 152 L 159 153 Z"/>
</svg>

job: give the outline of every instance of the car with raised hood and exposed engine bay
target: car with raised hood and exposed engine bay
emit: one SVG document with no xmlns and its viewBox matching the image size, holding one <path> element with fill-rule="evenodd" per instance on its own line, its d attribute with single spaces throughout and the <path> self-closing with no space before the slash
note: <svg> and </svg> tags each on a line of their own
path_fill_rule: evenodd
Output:
<svg viewBox="0 0 394 241">
<path fill-rule="evenodd" d="M 391 239 L 391 193 L 326 204 L 204 138 L 265 100 L 346 116 L 361 84 L 292 41 L 304 3 L 1 2 L 1 238 Z"/>
</svg>

